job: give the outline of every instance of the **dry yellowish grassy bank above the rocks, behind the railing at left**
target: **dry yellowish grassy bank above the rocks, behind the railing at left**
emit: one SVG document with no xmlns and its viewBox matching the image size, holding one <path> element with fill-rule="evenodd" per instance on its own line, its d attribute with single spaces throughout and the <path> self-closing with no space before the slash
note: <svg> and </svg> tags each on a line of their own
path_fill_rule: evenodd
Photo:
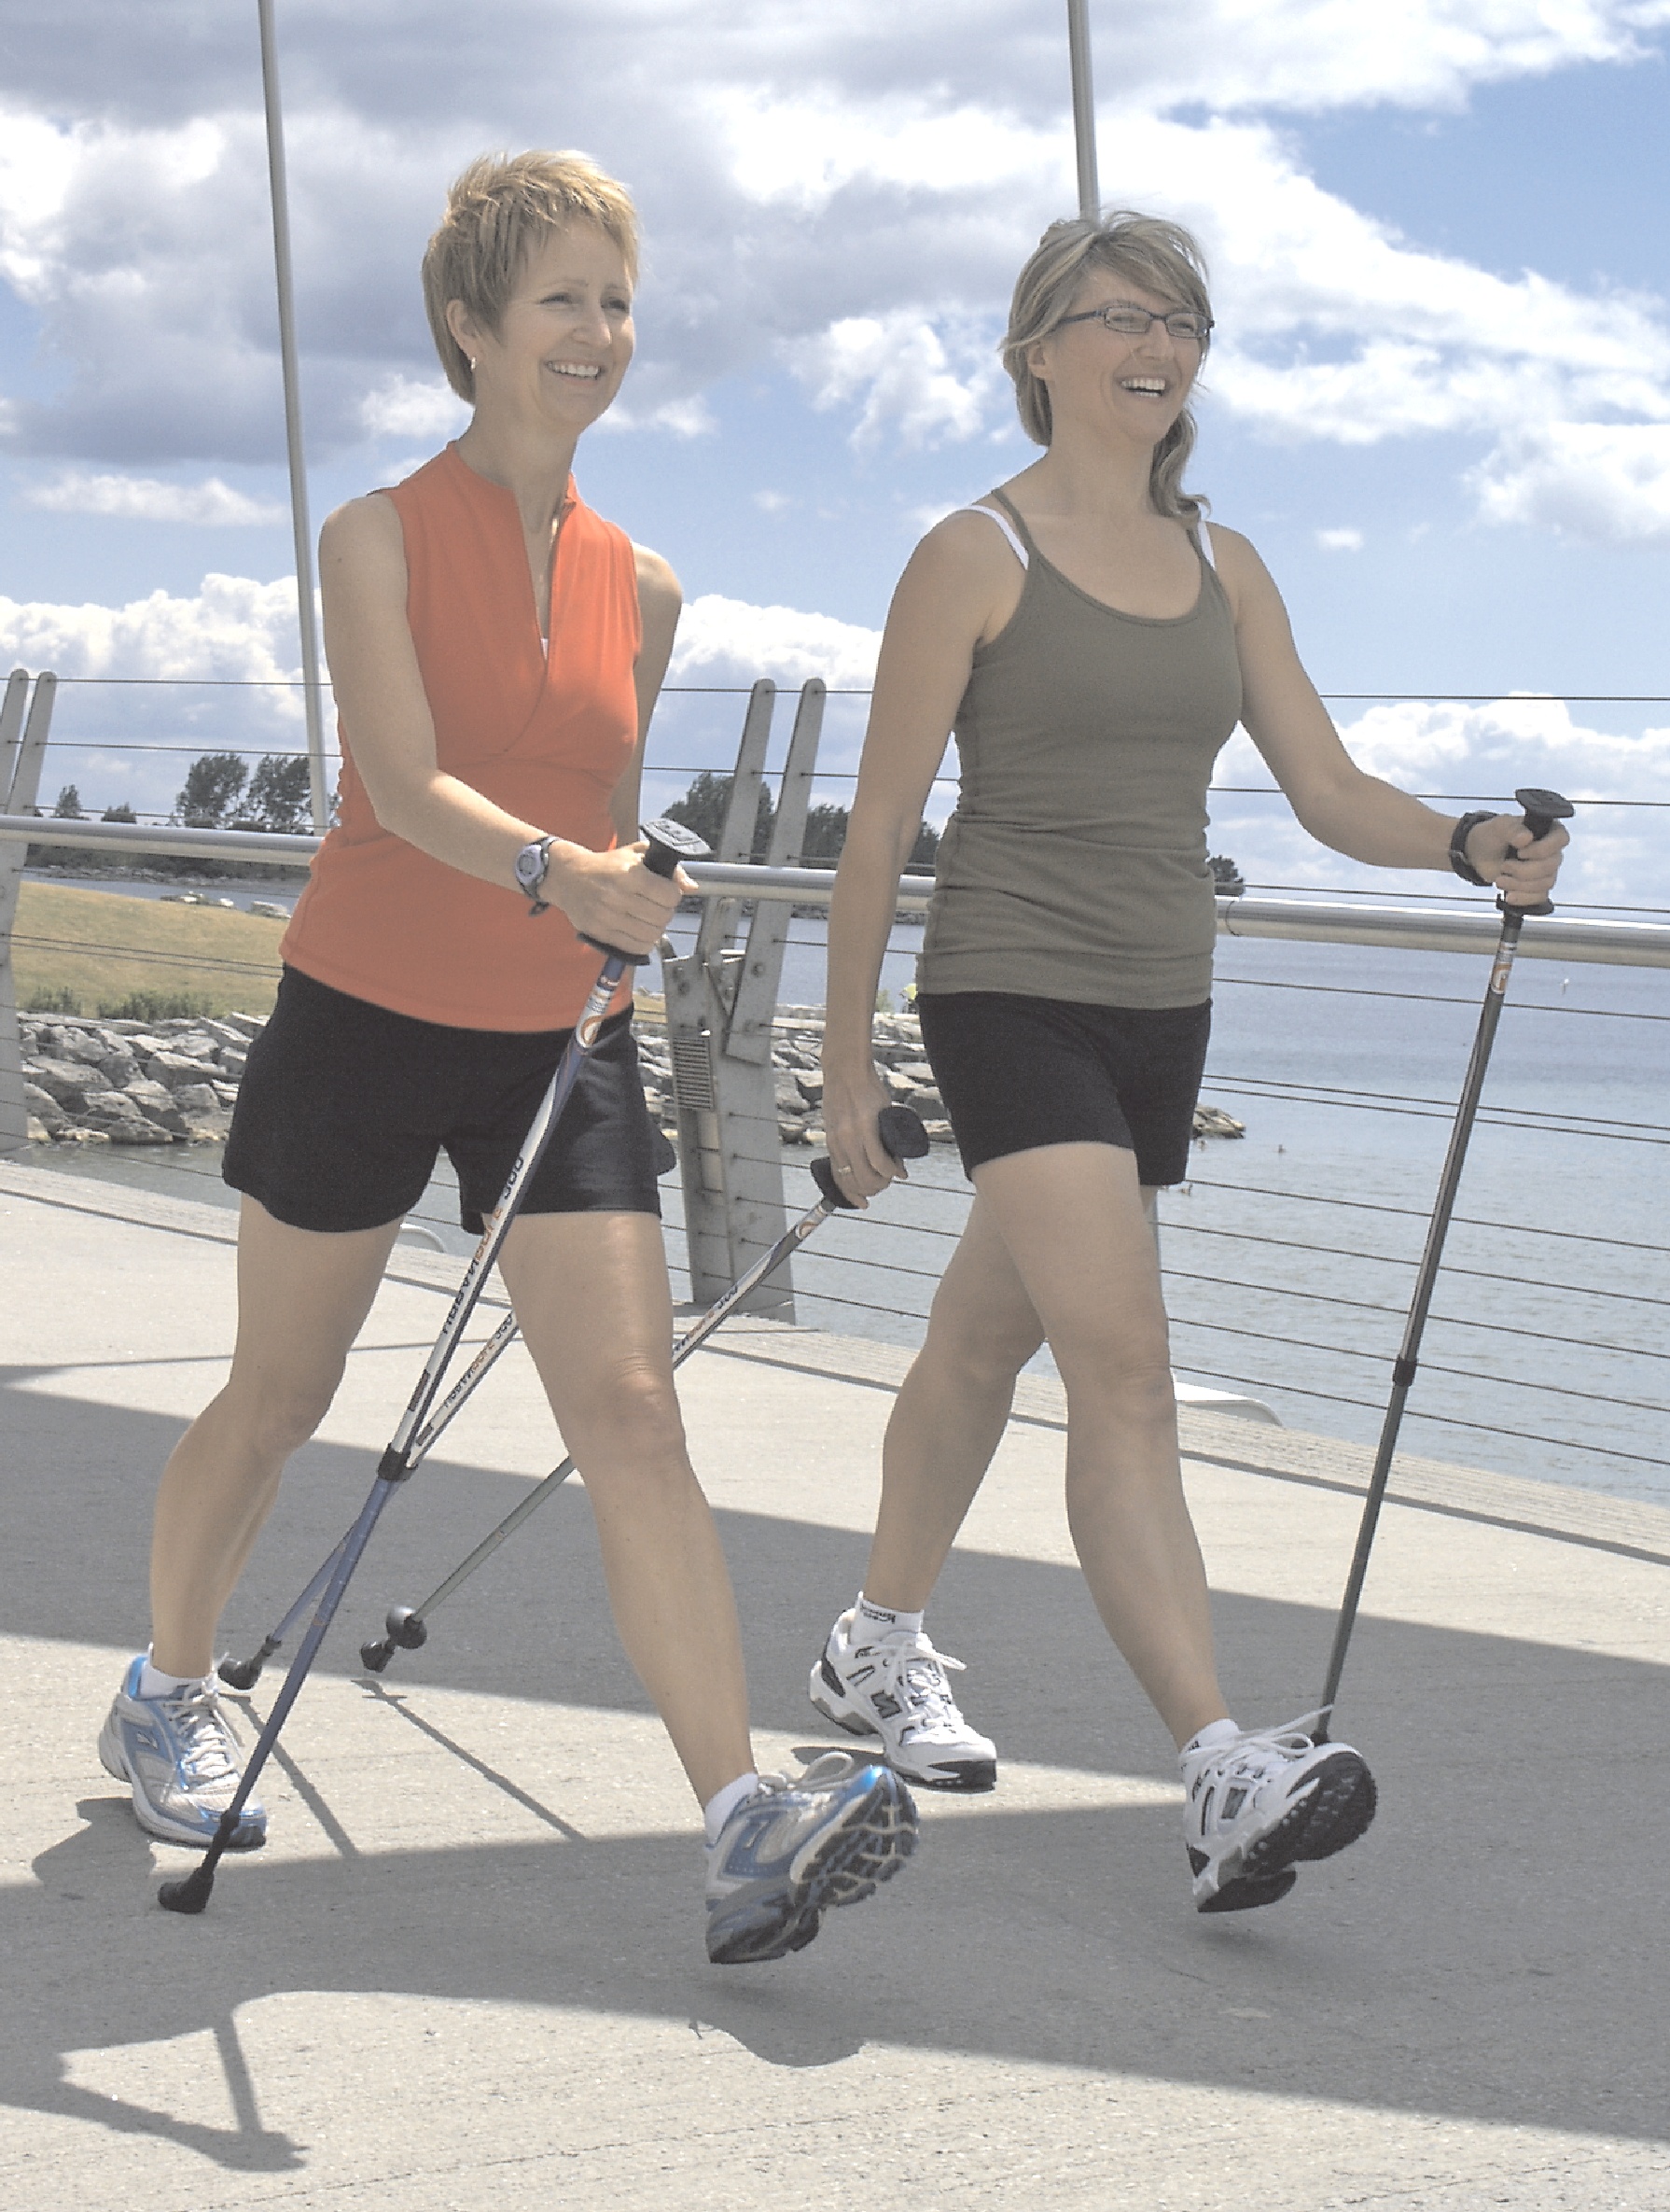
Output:
<svg viewBox="0 0 1670 2212">
<path fill-rule="evenodd" d="M 215 896 L 215 894 L 208 894 Z M 11 958 L 18 1004 L 142 1020 L 270 1013 L 283 922 L 228 907 L 175 907 L 24 883 Z"/>
</svg>

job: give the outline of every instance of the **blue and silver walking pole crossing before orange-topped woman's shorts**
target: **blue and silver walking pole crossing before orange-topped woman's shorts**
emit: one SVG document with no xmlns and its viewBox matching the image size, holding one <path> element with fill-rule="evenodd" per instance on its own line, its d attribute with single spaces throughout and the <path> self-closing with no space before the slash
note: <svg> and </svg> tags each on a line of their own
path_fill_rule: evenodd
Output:
<svg viewBox="0 0 1670 2212">
<path fill-rule="evenodd" d="M 697 854 L 706 854 L 708 849 L 701 843 L 701 838 L 695 836 L 690 830 L 686 830 L 681 823 L 666 823 L 666 821 L 648 823 L 644 834 L 650 845 L 648 854 L 644 856 L 644 865 L 657 876 L 672 876 L 681 856 L 695 858 Z M 595 945 L 595 940 L 591 938 L 586 942 Z M 261 1767 L 272 1756 L 272 1745 L 279 1741 L 279 1732 L 283 1730 L 283 1723 L 290 1717 L 290 1708 L 296 1703 L 296 1697 L 301 1694 L 301 1686 L 307 1679 L 319 1646 L 325 1641 L 325 1630 L 330 1628 L 336 1608 L 343 1601 L 343 1590 L 347 1588 L 354 1568 L 361 1562 L 361 1553 L 372 1540 L 372 1531 L 376 1528 L 378 1515 L 394 1495 L 396 1486 L 405 1482 L 411 1469 L 416 1467 L 414 1440 L 420 1431 L 422 1418 L 429 1411 L 436 1391 L 440 1389 L 440 1378 L 445 1376 L 447 1363 L 458 1349 L 458 1338 L 465 1332 L 465 1323 L 476 1310 L 476 1301 L 480 1298 L 487 1285 L 487 1276 L 491 1274 L 493 1263 L 498 1261 L 504 1248 L 504 1239 L 511 1232 L 511 1223 L 515 1221 L 515 1214 L 522 1206 L 522 1197 L 529 1188 L 529 1181 L 533 1179 L 533 1172 L 540 1166 L 540 1159 L 544 1157 L 544 1150 L 551 1144 L 551 1137 L 557 1128 L 557 1119 L 562 1117 L 562 1110 L 568 1104 L 573 1086 L 580 1079 L 580 1068 L 591 1048 L 597 1044 L 597 1033 L 602 1031 L 604 1020 L 608 1015 L 608 1002 L 615 998 L 615 991 L 619 989 L 619 980 L 626 973 L 626 969 L 639 964 L 639 960 L 646 958 L 637 953 L 624 953 L 615 945 L 602 945 L 597 949 L 606 953 L 597 982 L 591 987 L 591 995 L 586 998 L 580 1020 L 575 1022 L 573 1035 L 564 1046 L 562 1060 L 557 1062 L 557 1068 L 546 1086 L 544 1097 L 540 1099 L 537 1113 L 533 1115 L 533 1124 L 529 1126 L 529 1133 L 522 1139 L 522 1152 L 518 1155 L 515 1166 L 509 1172 L 498 1206 L 487 1219 L 487 1228 L 482 1230 L 482 1241 L 476 1245 L 476 1254 L 469 1267 L 465 1270 L 465 1281 L 458 1285 L 458 1292 L 453 1294 L 453 1301 L 447 1307 L 447 1318 L 440 1325 L 440 1334 L 436 1336 L 429 1358 L 422 1363 L 422 1374 L 418 1376 L 418 1385 L 411 1391 L 411 1398 L 407 1400 L 407 1409 L 400 1416 L 400 1425 L 396 1427 L 389 1444 L 383 1451 L 383 1458 L 378 1460 L 376 1482 L 372 1484 L 372 1493 L 361 1506 L 358 1520 L 347 1531 L 343 1542 L 336 1546 L 332 1562 L 327 1562 L 330 1579 L 325 1582 L 323 1597 L 319 1599 L 319 1610 L 314 1613 L 312 1621 L 307 1624 L 307 1632 L 296 1646 L 296 1657 L 290 1661 L 290 1672 L 285 1674 L 283 1688 L 279 1690 L 279 1697 L 272 1703 L 268 1723 L 261 1730 L 254 1750 L 250 1752 L 250 1763 L 246 1765 L 243 1778 L 239 1781 L 237 1792 L 232 1794 L 232 1803 L 226 1807 L 215 1827 L 208 1851 L 203 1854 L 203 1863 L 195 1867 L 188 1876 L 184 1876 L 184 1880 L 164 1882 L 161 1889 L 157 1891 L 157 1902 L 170 1913 L 201 1913 L 210 1900 L 210 1893 L 215 1889 L 215 1869 L 219 1867 L 223 1854 L 228 1851 L 232 1838 L 239 1832 L 243 1807 L 250 1801 L 250 1792 L 254 1790 Z M 316 1579 L 319 1577 L 314 1577 L 314 1582 Z"/>
</svg>

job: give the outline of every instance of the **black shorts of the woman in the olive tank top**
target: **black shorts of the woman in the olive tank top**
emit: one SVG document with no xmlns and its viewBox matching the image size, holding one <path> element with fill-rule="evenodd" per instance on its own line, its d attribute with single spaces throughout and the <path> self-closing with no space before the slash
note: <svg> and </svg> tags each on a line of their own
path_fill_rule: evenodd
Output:
<svg viewBox="0 0 1670 2212">
<path fill-rule="evenodd" d="M 922 1046 L 964 1175 L 1044 1144 L 1117 1144 L 1137 1181 L 1181 1183 L 1212 1000 L 1079 1006 L 1015 991 L 918 991 Z"/>
</svg>

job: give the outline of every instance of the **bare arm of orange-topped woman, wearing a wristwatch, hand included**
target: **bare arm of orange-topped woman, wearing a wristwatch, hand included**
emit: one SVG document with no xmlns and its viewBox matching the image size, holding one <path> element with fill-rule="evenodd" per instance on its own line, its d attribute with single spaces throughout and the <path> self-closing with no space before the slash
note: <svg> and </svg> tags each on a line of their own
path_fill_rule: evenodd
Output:
<svg viewBox="0 0 1670 2212">
<path fill-rule="evenodd" d="M 336 703 L 378 823 L 418 852 L 515 894 L 515 856 L 546 832 L 495 807 L 436 761 L 394 507 L 369 495 L 336 509 L 319 538 L 319 575 Z M 544 896 L 586 936 L 648 951 L 677 887 L 650 876 L 633 849 L 591 852 L 555 838 Z"/>
</svg>

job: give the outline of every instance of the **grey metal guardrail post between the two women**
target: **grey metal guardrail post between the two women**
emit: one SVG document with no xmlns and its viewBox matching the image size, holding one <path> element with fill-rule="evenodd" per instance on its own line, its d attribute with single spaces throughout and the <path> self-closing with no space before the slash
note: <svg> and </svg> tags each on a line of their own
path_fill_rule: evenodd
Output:
<svg viewBox="0 0 1670 2212">
<path fill-rule="evenodd" d="M 790 867 L 801 854 L 823 730 L 823 699 L 821 681 L 801 690 L 772 821 L 770 867 Z M 756 684 L 743 717 L 719 860 L 752 858 L 774 703 L 776 686 Z M 741 911 L 739 898 L 710 900 L 695 949 L 683 958 L 661 960 L 690 1296 L 701 1305 L 734 1283 L 787 1228 L 772 1015 L 792 909 L 779 900 L 759 900 L 748 936 L 737 947 L 730 940 Z M 787 1265 L 761 1283 L 743 1305 L 748 1312 L 770 1312 L 792 1321 L 794 1281 Z"/>
</svg>

